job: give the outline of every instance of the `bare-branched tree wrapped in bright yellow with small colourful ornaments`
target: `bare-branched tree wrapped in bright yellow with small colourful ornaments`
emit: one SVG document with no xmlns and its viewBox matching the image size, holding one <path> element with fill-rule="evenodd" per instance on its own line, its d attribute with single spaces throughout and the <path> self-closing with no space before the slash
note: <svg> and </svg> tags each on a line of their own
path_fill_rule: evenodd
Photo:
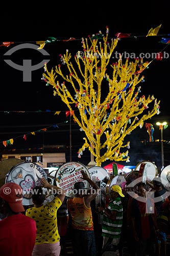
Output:
<svg viewBox="0 0 170 256">
<path fill-rule="evenodd" d="M 123 62 L 120 55 L 111 63 L 118 38 L 109 38 L 108 32 L 82 38 L 83 51 L 73 58 L 66 50 L 61 60 L 67 71 L 61 65 L 48 71 L 45 65 L 43 74 L 85 133 L 79 157 L 88 148 L 97 166 L 108 159 L 128 162 L 130 142 L 125 143 L 125 137 L 159 114 L 159 102 L 154 96 L 139 97 L 137 87 L 149 63 L 138 58 Z"/>
</svg>

